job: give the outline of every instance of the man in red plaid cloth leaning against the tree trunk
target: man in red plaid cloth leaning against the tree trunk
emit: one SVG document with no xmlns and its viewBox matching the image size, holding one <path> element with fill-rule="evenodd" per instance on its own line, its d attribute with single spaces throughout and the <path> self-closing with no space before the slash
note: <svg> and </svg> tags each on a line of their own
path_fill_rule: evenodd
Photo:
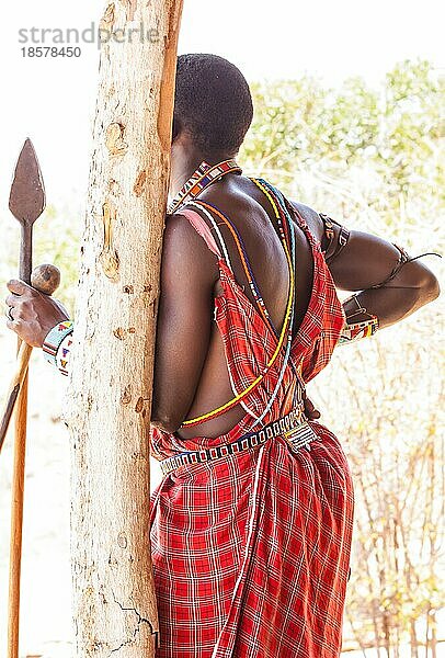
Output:
<svg viewBox="0 0 445 658">
<path fill-rule="evenodd" d="M 438 294 L 403 249 L 242 177 L 252 112 L 235 66 L 179 58 L 150 436 L 159 658 L 339 656 L 352 483 L 305 385 L 339 342 Z M 341 305 L 335 286 L 358 293 Z M 66 370 L 67 315 L 8 287 L 8 326 Z"/>
</svg>

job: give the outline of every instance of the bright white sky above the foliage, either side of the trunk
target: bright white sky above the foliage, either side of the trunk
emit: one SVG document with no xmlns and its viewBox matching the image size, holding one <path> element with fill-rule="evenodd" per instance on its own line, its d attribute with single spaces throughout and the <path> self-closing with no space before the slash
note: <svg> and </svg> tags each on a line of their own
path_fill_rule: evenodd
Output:
<svg viewBox="0 0 445 658">
<path fill-rule="evenodd" d="M 350 75 L 376 83 L 404 58 L 424 57 L 445 67 L 440 0 L 184 1 L 180 52 L 222 55 L 249 80 L 308 72 L 332 84 Z M 0 222 L 8 217 L 8 188 L 26 136 L 37 149 L 48 203 L 75 204 L 82 212 L 96 47 L 83 44 L 79 59 L 24 59 L 18 31 L 85 29 L 98 24 L 102 7 L 98 0 L 21 0 L 3 8 Z"/>
</svg>

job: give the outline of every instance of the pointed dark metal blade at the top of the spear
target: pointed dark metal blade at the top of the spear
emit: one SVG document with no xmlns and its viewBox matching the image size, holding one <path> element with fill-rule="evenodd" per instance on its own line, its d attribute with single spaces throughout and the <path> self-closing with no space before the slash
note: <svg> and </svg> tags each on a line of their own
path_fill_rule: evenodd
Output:
<svg viewBox="0 0 445 658">
<path fill-rule="evenodd" d="M 15 164 L 9 208 L 22 225 L 32 226 L 44 212 L 45 205 L 41 167 L 31 139 L 26 139 Z"/>
</svg>

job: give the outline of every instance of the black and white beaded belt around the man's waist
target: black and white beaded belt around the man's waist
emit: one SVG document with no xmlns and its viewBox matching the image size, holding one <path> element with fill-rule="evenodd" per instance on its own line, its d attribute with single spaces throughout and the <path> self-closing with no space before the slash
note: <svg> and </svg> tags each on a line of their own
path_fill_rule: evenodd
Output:
<svg viewBox="0 0 445 658">
<path fill-rule="evenodd" d="M 299 408 L 290 411 L 278 420 L 270 422 L 259 432 L 243 434 L 232 443 L 226 443 L 206 450 L 185 452 L 162 460 L 160 462 L 161 470 L 163 475 L 168 475 L 185 464 L 202 464 L 203 462 L 212 462 L 227 455 L 236 455 L 244 450 L 256 447 L 258 445 L 265 443 L 267 439 L 274 439 L 275 436 L 283 436 L 286 439 L 294 450 L 304 446 L 307 446 L 308 450 L 310 450 L 309 443 L 313 441 L 313 439 L 317 439 L 317 434 L 308 423 L 303 408 Z"/>
</svg>

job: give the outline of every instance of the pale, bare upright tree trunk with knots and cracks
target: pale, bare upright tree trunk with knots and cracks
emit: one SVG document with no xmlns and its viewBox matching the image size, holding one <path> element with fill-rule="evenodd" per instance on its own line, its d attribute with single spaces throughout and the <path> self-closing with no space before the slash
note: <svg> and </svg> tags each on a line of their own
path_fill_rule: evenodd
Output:
<svg viewBox="0 0 445 658">
<path fill-rule="evenodd" d="M 182 0 L 126 0 L 100 23 L 65 413 L 77 658 L 148 658 L 158 637 L 148 430 L 181 12 Z"/>
</svg>

